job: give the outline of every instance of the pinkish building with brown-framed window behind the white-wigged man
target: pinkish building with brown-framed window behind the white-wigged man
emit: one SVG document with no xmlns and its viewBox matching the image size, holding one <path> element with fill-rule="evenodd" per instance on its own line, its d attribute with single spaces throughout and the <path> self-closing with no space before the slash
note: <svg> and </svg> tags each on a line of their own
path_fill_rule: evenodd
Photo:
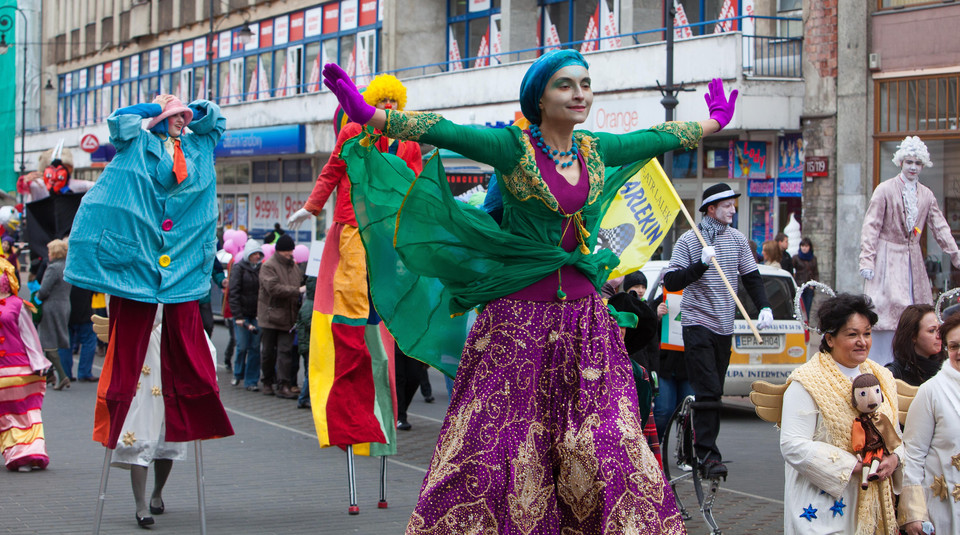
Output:
<svg viewBox="0 0 960 535">
<path fill-rule="evenodd" d="M 926 0 L 804 2 L 803 137 L 827 176 L 804 184 L 803 229 L 824 282 L 862 291 L 860 228 L 874 188 L 895 177 L 900 141 L 920 136 L 920 175 L 960 236 L 960 4 Z M 921 237 L 934 295 L 960 284 L 929 232 Z"/>
</svg>

